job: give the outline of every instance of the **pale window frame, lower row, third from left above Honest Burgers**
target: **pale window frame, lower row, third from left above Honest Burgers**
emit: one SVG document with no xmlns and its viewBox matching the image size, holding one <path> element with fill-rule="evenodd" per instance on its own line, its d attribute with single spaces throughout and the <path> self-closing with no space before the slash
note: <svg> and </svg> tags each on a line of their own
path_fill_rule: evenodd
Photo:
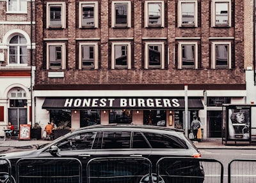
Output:
<svg viewBox="0 0 256 183">
<path fill-rule="evenodd" d="M 127 46 L 127 66 L 117 65 L 115 61 L 115 46 L 116 45 L 126 45 Z M 132 68 L 132 58 L 131 58 L 131 42 L 113 42 L 111 45 L 111 69 L 115 68 Z"/>
</svg>

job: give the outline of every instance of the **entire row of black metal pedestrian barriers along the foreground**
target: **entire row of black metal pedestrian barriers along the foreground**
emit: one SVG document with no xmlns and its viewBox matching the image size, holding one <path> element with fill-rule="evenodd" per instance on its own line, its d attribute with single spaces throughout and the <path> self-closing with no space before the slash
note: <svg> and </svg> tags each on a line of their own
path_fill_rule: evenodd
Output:
<svg viewBox="0 0 256 183">
<path fill-rule="evenodd" d="M 227 183 L 223 164 L 215 159 L 145 157 L 0 159 L 2 183 Z M 12 177 L 12 179 L 10 179 Z M 228 164 L 228 183 L 255 183 L 256 159 L 234 159 Z"/>
</svg>

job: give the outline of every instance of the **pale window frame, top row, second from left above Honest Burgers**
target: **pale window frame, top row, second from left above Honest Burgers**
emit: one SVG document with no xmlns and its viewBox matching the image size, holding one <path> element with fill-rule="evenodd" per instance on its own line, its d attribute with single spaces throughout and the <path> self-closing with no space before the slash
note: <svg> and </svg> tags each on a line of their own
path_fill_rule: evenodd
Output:
<svg viewBox="0 0 256 183">
<path fill-rule="evenodd" d="M 94 13 L 93 13 L 93 19 L 94 24 L 93 25 L 83 25 L 83 6 L 84 4 L 87 5 L 93 5 L 94 7 Z M 99 4 L 96 1 L 86 1 L 86 2 L 79 2 L 79 28 L 99 28 Z"/>
</svg>

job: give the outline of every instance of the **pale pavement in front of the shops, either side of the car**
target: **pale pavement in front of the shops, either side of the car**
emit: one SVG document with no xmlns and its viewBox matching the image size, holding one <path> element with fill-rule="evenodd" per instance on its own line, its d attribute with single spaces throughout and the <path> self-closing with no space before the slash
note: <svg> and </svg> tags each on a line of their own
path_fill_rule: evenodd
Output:
<svg viewBox="0 0 256 183">
<path fill-rule="evenodd" d="M 19 140 L 19 139 L 7 139 L 4 141 L 0 139 L 0 147 L 31 147 L 35 146 L 38 147 L 39 145 L 43 145 L 45 143 L 50 143 L 51 141 L 46 141 L 44 139 L 31 139 L 31 140 Z M 225 142 L 221 143 L 221 138 L 207 138 L 203 139 L 200 142 L 194 141 L 195 146 L 199 149 L 205 148 L 223 148 L 223 149 L 255 149 L 256 150 L 256 143 L 251 144 L 249 142 L 237 142 L 228 141 L 227 145 Z"/>
</svg>

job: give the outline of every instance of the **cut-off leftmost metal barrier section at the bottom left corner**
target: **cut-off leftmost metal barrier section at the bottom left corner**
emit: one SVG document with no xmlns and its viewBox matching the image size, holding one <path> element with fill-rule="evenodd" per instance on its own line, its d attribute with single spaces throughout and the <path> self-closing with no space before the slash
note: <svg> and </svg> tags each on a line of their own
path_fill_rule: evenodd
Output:
<svg viewBox="0 0 256 183">
<path fill-rule="evenodd" d="M 12 166 L 8 159 L 0 159 L 0 182 L 14 182 L 12 177 Z"/>
</svg>

